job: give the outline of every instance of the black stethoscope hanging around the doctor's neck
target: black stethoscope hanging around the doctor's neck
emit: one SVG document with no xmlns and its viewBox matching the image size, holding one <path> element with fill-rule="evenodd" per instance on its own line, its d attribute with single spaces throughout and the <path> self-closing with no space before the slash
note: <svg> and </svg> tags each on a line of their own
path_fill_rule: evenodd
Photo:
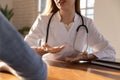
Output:
<svg viewBox="0 0 120 80">
<path fill-rule="evenodd" d="M 55 12 L 55 13 L 56 13 L 56 12 Z M 50 23 L 51 23 L 51 20 L 52 20 L 53 16 L 55 15 L 55 13 L 53 13 L 53 14 L 51 15 L 51 17 L 50 17 L 50 19 L 49 19 L 49 21 L 48 21 L 48 25 L 47 25 L 47 29 L 46 29 L 46 38 L 45 38 L 45 42 L 46 42 L 46 43 L 48 42 Z M 85 29 L 85 31 L 86 31 L 86 33 L 87 33 L 87 47 L 86 47 L 85 50 L 87 50 L 87 48 L 88 48 L 88 28 L 87 28 L 87 26 L 86 26 L 85 23 L 84 23 L 84 20 L 83 20 L 82 15 L 79 14 L 79 13 L 77 13 L 77 14 L 81 17 L 82 24 L 77 27 L 77 29 L 76 29 L 76 35 L 77 35 L 77 33 L 78 33 L 78 31 L 79 31 L 80 28 L 83 27 L 83 28 Z M 76 39 L 76 38 L 75 38 L 75 39 Z M 76 40 L 75 40 L 75 41 L 76 41 Z M 74 42 L 74 43 L 75 43 L 75 42 Z"/>
</svg>

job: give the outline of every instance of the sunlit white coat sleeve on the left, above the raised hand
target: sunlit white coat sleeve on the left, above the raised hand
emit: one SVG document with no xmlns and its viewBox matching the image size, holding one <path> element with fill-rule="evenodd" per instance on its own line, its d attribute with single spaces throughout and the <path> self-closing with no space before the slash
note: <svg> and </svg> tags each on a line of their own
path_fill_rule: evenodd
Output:
<svg viewBox="0 0 120 80">
<path fill-rule="evenodd" d="M 40 26 L 40 27 L 39 27 Z M 29 46 L 38 47 L 38 41 L 42 38 L 43 32 L 41 30 L 42 27 L 41 17 L 38 16 L 35 22 L 33 23 L 29 33 L 25 36 L 24 40 L 29 44 Z"/>
</svg>

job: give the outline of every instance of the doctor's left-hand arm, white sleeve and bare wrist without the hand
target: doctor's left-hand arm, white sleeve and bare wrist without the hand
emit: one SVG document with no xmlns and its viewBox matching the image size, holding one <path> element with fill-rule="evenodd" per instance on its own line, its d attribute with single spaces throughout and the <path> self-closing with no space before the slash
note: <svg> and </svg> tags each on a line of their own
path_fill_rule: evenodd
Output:
<svg viewBox="0 0 120 80">
<path fill-rule="evenodd" d="M 24 40 L 31 46 L 33 50 L 35 50 L 40 56 L 47 53 L 44 49 L 39 47 L 39 40 L 44 35 L 41 27 L 43 26 L 43 21 L 41 20 L 41 16 L 39 15 L 32 25 L 29 33 L 25 36 Z"/>
</svg>

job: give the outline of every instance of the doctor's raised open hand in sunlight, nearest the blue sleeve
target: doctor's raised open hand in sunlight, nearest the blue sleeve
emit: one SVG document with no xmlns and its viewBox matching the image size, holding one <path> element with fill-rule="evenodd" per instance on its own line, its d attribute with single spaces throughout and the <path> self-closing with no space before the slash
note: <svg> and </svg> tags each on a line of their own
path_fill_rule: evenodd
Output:
<svg viewBox="0 0 120 80">
<path fill-rule="evenodd" d="M 52 47 L 52 46 L 45 43 L 41 46 L 41 48 L 44 51 L 46 51 L 47 53 L 58 53 L 58 52 L 60 52 L 61 50 L 64 49 L 64 45 Z"/>
</svg>

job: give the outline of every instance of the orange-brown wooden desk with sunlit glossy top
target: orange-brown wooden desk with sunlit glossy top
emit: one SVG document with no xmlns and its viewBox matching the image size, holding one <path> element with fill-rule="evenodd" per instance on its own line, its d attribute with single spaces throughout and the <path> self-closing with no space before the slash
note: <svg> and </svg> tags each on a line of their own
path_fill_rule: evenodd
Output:
<svg viewBox="0 0 120 80">
<path fill-rule="evenodd" d="M 120 70 L 92 65 L 90 63 L 66 63 L 45 61 L 48 80 L 120 80 Z M 0 80 L 19 80 L 7 73 L 0 73 Z"/>
</svg>

